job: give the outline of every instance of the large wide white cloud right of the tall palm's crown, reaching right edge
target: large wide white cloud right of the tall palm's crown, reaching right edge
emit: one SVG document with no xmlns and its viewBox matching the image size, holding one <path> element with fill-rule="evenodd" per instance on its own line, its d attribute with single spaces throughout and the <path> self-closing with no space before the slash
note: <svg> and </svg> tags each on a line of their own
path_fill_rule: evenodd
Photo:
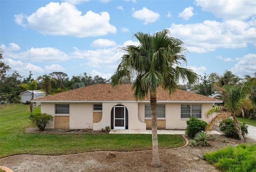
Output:
<svg viewBox="0 0 256 172">
<path fill-rule="evenodd" d="M 186 43 L 189 52 L 210 52 L 216 48 L 256 46 L 256 28 L 250 22 L 206 20 L 195 24 L 172 24 L 168 28 L 174 38 Z"/>
</svg>

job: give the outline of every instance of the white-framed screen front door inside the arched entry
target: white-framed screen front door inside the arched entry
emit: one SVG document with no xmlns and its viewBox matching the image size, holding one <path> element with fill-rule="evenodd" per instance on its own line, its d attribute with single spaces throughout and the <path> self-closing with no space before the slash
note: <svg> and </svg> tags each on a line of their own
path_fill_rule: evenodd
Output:
<svg viewBox="0 0 256 172">
<path fill-rule="evenodd" d="M 125 106 L 114 106 L 114 129 L 125 130 Z"/>
</svg>

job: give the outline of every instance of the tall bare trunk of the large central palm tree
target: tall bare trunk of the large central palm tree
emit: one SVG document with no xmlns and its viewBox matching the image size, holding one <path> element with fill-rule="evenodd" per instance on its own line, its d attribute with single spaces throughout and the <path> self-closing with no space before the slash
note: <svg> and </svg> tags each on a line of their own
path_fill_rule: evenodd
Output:
<svg viewBox="0 0 256 172">
<path fill-rule="evenodd" d="M 152 128 L 152 162 L 154 167 L 160 166 L 158 154 L 158 136 L 157 136 L 157 116 L 156 116 L 156 93 L 150 93 L 150 106 L 151 106 L 151 128 Z"/>
</svg>

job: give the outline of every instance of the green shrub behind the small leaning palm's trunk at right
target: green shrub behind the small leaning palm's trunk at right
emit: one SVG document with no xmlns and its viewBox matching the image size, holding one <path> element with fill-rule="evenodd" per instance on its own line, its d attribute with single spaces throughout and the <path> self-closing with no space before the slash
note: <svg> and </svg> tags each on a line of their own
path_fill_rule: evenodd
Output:
<svg viewBox="0 0 256 172">
<path fill-rule="evenodd" d="M 240 123 L 240 126 L 242 130 L 242 135 L 243 136 L 247 135 L 248 126 L 245 123 Z M 227 137 L 239 138 L 233 119 L 227 118 L 226 120 L 222 120 L 219 124 L 219 128 L 220 128 L 220 131 L 222 131 Z"/>
</svg>

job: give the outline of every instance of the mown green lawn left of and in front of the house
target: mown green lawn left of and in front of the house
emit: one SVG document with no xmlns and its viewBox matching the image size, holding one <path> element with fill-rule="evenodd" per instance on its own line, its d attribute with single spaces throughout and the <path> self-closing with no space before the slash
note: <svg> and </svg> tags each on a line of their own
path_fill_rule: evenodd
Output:
<svg viewBox="0 0 256 172">
<path fill-rule="evenodd" d="M 40 107 L 34 107 L 40 112 Z M 91 151 L 151 150 L 150 134 L 32 134 L 30 108 L 10 104 L 0 109 L 0 158 L 17 154 L 64 155 Z M 160 149 L 183 146 L 181 135 L 158 135 Z"/>
</svg>

